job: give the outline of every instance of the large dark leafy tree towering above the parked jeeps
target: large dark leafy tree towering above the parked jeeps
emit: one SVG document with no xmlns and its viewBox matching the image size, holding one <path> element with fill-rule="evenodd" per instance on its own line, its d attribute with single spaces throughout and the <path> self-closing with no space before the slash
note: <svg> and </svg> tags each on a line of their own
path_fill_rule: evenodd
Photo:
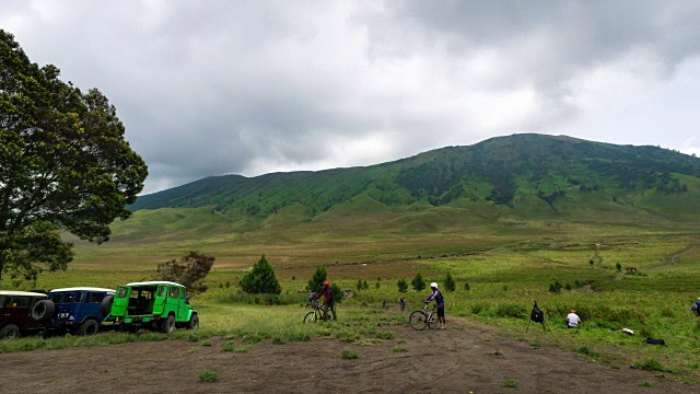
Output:
<svg viewBox="0 0 700 394">
<path fill-rule="evenodd" d="M 0 30 L 0 279 L 66 269 L 61 231 L 108 241 L 148 175 L 107 97 L 58 76 Z"/>
</svg>

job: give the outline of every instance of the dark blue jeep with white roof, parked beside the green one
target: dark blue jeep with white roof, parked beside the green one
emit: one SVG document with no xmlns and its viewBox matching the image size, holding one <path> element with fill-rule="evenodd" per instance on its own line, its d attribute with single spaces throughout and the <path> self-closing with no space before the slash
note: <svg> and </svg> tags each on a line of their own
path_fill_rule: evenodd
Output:
<svg viewBox="0 0 700 394">
<path fill-rule="evenodd" d="M 44 336 L 94 335 L 118 322 L 102 314 L 102 301 L 114 296 L 113 289 L 74 287 L 54 289 L 48 299 L 32 309 L 34 318 L 44 322 Z"/>
</svg>

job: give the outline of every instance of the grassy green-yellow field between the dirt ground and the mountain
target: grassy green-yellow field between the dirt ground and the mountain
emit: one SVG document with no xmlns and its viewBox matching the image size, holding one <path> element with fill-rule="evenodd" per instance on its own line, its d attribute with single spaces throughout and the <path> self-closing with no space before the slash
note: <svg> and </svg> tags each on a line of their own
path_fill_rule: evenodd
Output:
<svg viewBox="0 0 700 394">
<path fill-rule="evenodd" d="M 533 237 L 523 235 L 517 223 L 509 231 L 511 224 L 486 234 L 294 242 L 262 242 L 260 237 L 200 245 L 79 244 L 69 269 L 43 275 L 37 287 L 114 288 L 152 279 L 159 262 L 196 248 L 218 258 L 208 277 L 209 290 L 191 301 L 200 313 L 202 328 L 198 333 L 178 332 L 171 339 L 206 341 L 222 336 L 245 338 L 246 344 L 254 345 L 261 339 L 285 343 L 332 337 L 371 344 L 377 326 L 407 324 L 407 314 L 380 308 L 383 298 L 394 305 L 398 301 L 398 279 L 410 282 L 421 273 L 427 282 L 442 285 L 450 271 L 457 288 L 445 293 L 448 324 L 451 316 L 459 315 L 533 346 L 551 344 L 596 361 L 615 360 L 686 380 L 700 379 L 700 320 L 689 311 L 700 297 L 697 229 L 630 232 L 609 228 L 591 236 L 585 227 L 559 223 L 553 230 L 542 224 L 542 232 Z M 533 225 L 528 224 L 530 230 Z M 499 231 L 502 234 L 495 234 Z M 241 294 L 238 280 L 261 254 L 281 281 L 284 305 L 256 304 L 255 298 Z M 353 290 L 355 296 L 339 306 L 337 323 L 303 325 L 304 310 L 299 304 L 306 294 L 299 291 L 319 264 L 327 267 L 331 281 Z M 628 271 L 629 267 L 637 271 Z M 358 290 L 359 279 L 366 280 L 370 288 Z M 559 292 L 549 290 L 555 283 L 561 285 Z M 9 288 L 10 283 L 0 285 Z M 31 288 L 31 283 L 23 286 Z M 427 290 L 406 292 L 407 310 L 420 308 L 427 294 Z M 534 301 L 545 311 L 551 334 L 542 333 L 538 325 L 525 333 Z M 583 320 L 579 329 L 565 329 L 563 318 L 571 309 Z M 633 329 L 635 335 L 628 336 L 621 328 Z M 663 338 L 668 346 L 646 345 L 643 339 L 648 336 Z M 94 338 L 34 337 L 2 341 L 0 352 L 162 339 L 165 337 L 160 334 L 118 333 Z"/>
</svg>

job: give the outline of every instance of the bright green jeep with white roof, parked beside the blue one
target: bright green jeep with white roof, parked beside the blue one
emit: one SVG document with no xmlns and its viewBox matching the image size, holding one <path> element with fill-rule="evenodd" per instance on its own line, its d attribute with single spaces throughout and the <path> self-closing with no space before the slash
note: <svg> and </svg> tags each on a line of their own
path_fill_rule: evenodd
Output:
<svg viewBox="0 0 700 394">
<path fill-rule="evenodd" d="M 145 281 L 120 286 L 102 302 L 103 315 L 115 317 L 125 329 L 199 328 L 197 312 L 189 305 L 185 287 L 171 281 Z"/>
</svg>

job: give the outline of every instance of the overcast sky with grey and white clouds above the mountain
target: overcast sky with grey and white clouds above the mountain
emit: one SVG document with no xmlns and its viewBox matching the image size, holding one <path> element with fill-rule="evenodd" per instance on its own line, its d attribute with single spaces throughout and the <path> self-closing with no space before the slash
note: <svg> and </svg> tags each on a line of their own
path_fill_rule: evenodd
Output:
<svg viewBox="0 0 700 394">
<path fill-rule="evenodd" d="M 117 107 L 144 193 L 518 132 L 700 155 L 700 1 L 2 0 Z"/>
</svg>

